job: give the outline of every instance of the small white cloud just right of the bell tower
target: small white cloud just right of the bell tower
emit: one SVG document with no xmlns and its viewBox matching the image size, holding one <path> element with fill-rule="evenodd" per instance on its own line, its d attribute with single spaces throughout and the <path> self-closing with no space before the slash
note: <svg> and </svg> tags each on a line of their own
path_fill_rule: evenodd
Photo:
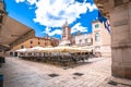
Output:
<svg viewBox="0 0 131 87">
<path fill-rule="evenodd" d="M 71 34 L 76 32 L 81 32 L 81 33 L 87 32 L 87 27 L 83 27 L 81 23 L 78 23 L 71 28 Z"/>
</svg>

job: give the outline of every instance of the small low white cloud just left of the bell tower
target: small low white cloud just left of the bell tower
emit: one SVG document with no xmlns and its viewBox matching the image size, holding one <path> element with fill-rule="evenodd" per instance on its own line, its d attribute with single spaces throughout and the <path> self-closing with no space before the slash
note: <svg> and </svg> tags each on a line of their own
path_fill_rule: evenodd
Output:
<svg viewBox="0 0 131 87">
<path fill-rule="evenodd" d="M 55 35 L 61 35 L 62 34 L 61 29 L 51 30 L 51 28 L 49 28 L 49 27 L 46 27 L 45 32 L 43 32 L 43 33 L 48 34 L 49 36 L 55 36 Z"/>
</svg>

